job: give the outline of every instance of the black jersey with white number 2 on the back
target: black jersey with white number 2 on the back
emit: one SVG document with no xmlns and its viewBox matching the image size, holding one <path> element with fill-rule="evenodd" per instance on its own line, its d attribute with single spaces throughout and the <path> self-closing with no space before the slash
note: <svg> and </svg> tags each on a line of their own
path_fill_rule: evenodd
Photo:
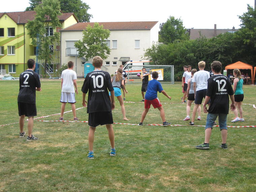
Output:
<svg viewBox="0 0 256 192">
<path fill-rule="evenodd" d="M 39 75 L 33 70 L 26 70 L 20 74 L 20 92 L 18 102 L 36 103 L 36 87 L 40 88 Z"/>
</svg>

